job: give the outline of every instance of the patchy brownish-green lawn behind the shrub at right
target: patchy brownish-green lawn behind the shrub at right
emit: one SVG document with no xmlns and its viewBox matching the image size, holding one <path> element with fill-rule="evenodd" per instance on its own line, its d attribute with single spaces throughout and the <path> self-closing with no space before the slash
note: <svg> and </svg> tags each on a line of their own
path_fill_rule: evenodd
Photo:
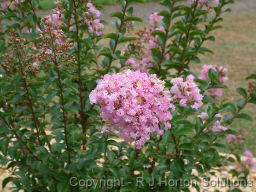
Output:
<svg viewBox="0 0 256 192">
<path fill-rule="evenodd" d="M 223 28 L 216 30 L 216 41 L 207 44 L 214 54 L 200 56 L 201 64 L 191 64 L 194 72 L 200 70 L 202 64 L 218 64 L 228 68 L 229 80 L 226 82 L 228 90 L 224 91 L 223 99 L 231 100 L 242 97 L 235 91 L 237 87 L 247 89 L 248 81 L 245 77 L 256 73 L 256 25 L 253 24 L 256 14 L 233 15 L 224 17 Z M 253 121 L 235 119 L 231 128 L 240 130 L 245 137 L 245 148 L 250 149 L 256 155 L 254 139 L 256 137 L 256 105 L 248 104 L 241 112 L 246 112 L 253 117 Z"/>
</svg>

